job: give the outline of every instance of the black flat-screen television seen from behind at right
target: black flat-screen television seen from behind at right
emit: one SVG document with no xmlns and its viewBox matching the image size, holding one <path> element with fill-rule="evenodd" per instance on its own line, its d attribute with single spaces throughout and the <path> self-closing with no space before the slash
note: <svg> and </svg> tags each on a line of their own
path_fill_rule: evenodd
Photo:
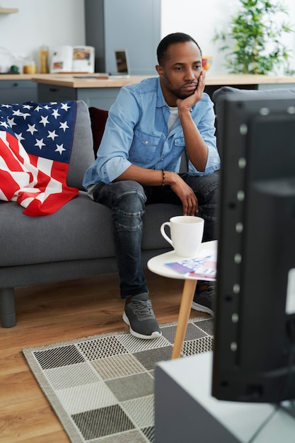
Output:
<svg viewBox="0 0 295 443">
<path fill-rule="evenodd" d="M 212 395 L 295 398 L 295 93 L 229 94 L 221 183 Z"/>
</svg>

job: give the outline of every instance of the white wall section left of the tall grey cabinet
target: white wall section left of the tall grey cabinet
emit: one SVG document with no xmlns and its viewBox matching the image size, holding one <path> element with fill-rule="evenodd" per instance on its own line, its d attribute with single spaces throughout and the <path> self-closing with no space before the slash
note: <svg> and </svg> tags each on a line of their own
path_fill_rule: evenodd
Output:
<svg viewBox="0 0 295 443">
<path fill-rule="evenodd" d="M 0 14 L 0 46 L 13 56 L 33 57 L 39 64 L 39 48 L 50 54 L 59 45 L 85 45 L 83 0 L 0 0 L 2 8 L 18 13 Z"/>
</svg>

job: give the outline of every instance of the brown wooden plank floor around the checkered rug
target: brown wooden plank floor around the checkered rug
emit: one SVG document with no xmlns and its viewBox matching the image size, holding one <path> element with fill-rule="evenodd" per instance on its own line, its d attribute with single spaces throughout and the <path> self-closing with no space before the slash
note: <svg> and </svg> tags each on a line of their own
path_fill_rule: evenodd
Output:
<svg viewBox="0 0 295 443">
<path fill-rule="evenodd" d="M 177 321 L 183 281 L 146 277 L 158 322 Z M 127 330 L 118 287 L 112 274 L 16 290 L 17 325 L 0 328 L 0 443 L 69 442 L 21 350 Z"/>
</svg>

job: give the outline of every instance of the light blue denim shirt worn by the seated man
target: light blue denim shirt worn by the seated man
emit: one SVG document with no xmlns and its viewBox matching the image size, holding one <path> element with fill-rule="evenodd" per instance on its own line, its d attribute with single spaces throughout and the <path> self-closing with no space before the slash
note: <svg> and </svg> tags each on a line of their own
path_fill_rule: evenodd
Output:
<svg viewBox="0 0 295 443">
<path fill-rule="evenodd" d="M 213 103 L 207 93 L 190 112 L 208 146 L 208 159 L 205 171 L 197 171 L 190 161 L 188 171 L 190 175 L 206 176 L 220 168 Z M 100 181 L 111 183 L 131 164 L 178 172 L 185 137 L 179 117 L 168 132 L 169 115 L 159 77 L 122 87 L 110 107 L 98 158 L 83 178 L 84 188 Z"/>
</svg>

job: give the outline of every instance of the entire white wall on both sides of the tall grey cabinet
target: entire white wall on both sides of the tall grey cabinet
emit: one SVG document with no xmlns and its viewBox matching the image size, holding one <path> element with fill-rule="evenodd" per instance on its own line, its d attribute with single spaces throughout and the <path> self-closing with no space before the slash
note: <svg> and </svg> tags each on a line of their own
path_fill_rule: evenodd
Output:
<svg viewBox="0 0 295 443">
<path fill-rule="evenodd" d="M 83 0 L 0 0 L 0 3 L 2 7 L 19 9 L 18 13 L 0 14 L 0 46 L 12 54 L 33 56 L 38 63 L 40 45 L 49 46 L 51 52 L 59 45 L 85 45 Z M 295 1 L 284 0 L 284 4 L 289 8 L 289 23 L 295 29 Z M 208 75 L 222 74 L 226 72 L 224 55 L 213 44 L 212 37 L 215 30 L 226 29 L 229 17 L 239 5 L 238 0 L 161 0 L 161 34 L 180 31 L 192 35 L 203 54 L 214 57 Z M 284 43 L 295 54 L 295 33 L 286 35 Z M 295 69 L 295 58 L 291 68 Z"/>
</svg>

